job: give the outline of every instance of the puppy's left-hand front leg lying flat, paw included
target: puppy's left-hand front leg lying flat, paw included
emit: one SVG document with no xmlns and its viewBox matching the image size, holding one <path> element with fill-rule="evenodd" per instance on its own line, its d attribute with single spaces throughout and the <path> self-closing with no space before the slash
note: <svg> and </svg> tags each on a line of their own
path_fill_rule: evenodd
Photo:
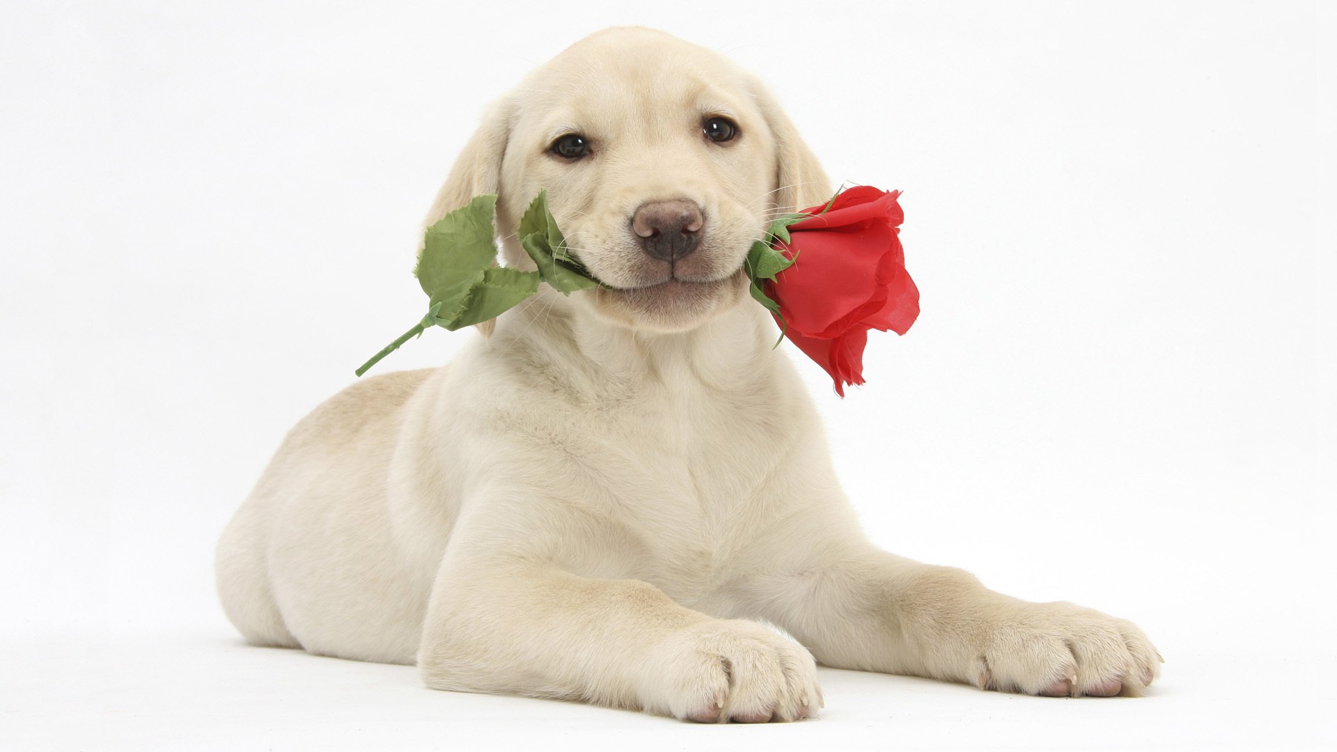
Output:
<svg viewBox="0 0 1337 752">
<path fill-rule="evenodd" d="M 821 702 L 812 654 L 759 624 L 707 617 L 642 581 L 539 563 L 448 555 L 418 665 L 436 689 L 582 700 L 706 723 L 787 721 Z"/>
</svg>

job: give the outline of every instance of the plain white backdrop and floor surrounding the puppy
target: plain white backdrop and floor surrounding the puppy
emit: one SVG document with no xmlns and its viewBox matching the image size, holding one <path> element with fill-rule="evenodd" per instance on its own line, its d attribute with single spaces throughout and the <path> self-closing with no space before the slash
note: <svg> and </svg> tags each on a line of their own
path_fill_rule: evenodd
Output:
<svg viewBox="0 0 1337 752">
<path fill-rule="evenodd" d="M 1324 13 L 7 4 L 0 747 L 1332 741 Z M 241 645 L 214 541 L 287 427 L 421 314 L 417 222 L 483 104 L 626 23 L 759 72 L 836 181 L 905 191 L 919 322 L 872 337 L 845 400 L 801 363 L 873 538 L 1138 621 L 1167 658 L 1150 697 L 822 670 L 817 720 L 698 728 Z"/>
</svg>

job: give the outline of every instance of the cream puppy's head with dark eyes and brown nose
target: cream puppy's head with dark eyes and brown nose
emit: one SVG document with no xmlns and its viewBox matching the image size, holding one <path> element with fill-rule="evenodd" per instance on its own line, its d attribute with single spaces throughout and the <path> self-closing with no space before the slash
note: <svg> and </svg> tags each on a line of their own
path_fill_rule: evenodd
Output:
<svg viewBox="0 0 1337 752">
<path fill-rule="evenodd" d="M 493 103 L 427 221 L 496 193 L 507 264 L 532 269 L 515 227 L 543 189 L 572 256 L 612 288 L 572 300 L 656 331 L 738 302 L 770 219 L 830 197 L 755 78 L 647 28 L 586 37 Z"/>
</svg>

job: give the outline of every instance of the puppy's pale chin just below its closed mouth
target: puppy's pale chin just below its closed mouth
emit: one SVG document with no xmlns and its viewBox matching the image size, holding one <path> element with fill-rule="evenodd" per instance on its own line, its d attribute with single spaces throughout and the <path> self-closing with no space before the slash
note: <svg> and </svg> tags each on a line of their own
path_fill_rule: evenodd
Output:
<svg viewBox="0 0 1337 752">
<path fill-rule="evenodd" d="M 709 281 L 668 280 L 639 288 L 606 289 L 595 294 L 604 318 L 638 329 L 686 332 L 733 308 L 747 289 L 742 269 Z"/>
</svg>

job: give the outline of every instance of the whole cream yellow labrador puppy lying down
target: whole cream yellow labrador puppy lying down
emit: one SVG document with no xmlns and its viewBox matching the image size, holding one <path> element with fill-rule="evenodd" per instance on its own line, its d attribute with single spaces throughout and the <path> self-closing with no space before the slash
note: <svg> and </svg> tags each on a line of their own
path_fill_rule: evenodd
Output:
<svg viewBox="0 0 1337 752">
<path fill-rule="evenodd" d="M 1050 696 L 1157 676 L 1127 621 L 864 537 L 741 273 L 769 217 L 832 194 L 755 78 L 596 33 L 491 107 L 427 221 L 496 193 L 504 262 L 532 269 L 513 231 L 540 189 L 611 289 L 544 288 L 449 365 L 298 423 L 218 546 L 246 640 L 695 721 L 801 719 L 817 662 Z"/>
</svg>

